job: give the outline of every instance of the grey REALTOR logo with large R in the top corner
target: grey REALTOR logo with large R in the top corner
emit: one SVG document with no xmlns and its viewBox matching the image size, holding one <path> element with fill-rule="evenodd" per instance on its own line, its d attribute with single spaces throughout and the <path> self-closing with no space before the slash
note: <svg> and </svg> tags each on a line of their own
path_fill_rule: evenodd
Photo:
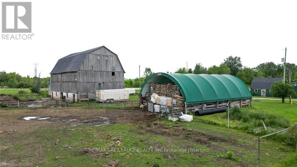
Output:
<svg viewBox="0 0 297 167">
<path fill-rule="evenodd" d="M 2 2 L 2 33 L 31 33 L 31 2 Z M 26 40 L 34 34 L 2 34 L 2 40 Z"/>
</svg>

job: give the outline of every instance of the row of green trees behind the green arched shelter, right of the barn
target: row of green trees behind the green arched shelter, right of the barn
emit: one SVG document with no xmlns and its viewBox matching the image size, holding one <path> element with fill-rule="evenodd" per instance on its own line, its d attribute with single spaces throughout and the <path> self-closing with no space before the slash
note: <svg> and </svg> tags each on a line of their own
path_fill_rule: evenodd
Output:
<svg viewBox="0 0 297 167">
<path fill-rule="evenodd" d="M 290 69 L 290 70 L 289 70 Z M 290 72 L 290 73 L 289 73 Z M 167 71 L 166 73 L 169 73 Z M 174 73 L 181 74 L 230 74 L 241 79 L 248 87 L 251 85 L 254 78 L 283 78 L 284 64 L 274 64 L 274 62 L 265 62 L 259 64 L 257 67 L 245 67 L 241 63 L 240 57 L 229 56 L 224 59 L 220 65 L 213 65 L 211 67 L 204 67 L 201 63 L 196 63 L 195 67 L 187 69 L 186 67 L 178 68 Z M 146 68 L 142 77 L 140 78 L 141 86 L 145 80 L 152 75 L 151 68 Z M 291 83 L 297 82 L 297 65 L 293 63 L 286 63 L 286 83 L 289 83 L 289 76 L 291 76 Z M 124 86 L 139 87 L 139 78 L 125 79 Z"/>
</svg>

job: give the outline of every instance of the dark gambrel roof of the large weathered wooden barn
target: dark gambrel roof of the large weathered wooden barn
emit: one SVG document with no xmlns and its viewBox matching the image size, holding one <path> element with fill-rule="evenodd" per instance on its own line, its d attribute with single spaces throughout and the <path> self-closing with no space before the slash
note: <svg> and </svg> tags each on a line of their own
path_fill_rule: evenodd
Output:
<svg viewBox="0 0 297 167">
<path fill-rule="evenodd" d="M 96 51 L 97 49 L 102 48 L 102 47 L 106 48 L 105 46 L 99 46 L 97 48 L 89 49 L 87 51 L 72 53 L 72 54 L 69 54 L 68 56 L 65 56 L 65 57 L 59 59 L 55 65 L 55 67 L 53 68 L 53 70 L 50 72 L 50 74 L 65 73 L 65 72 L 72 72 L 72 71 L 79 70 L 80 66 L 83 64 L 83 62 L 85 61 L 88 54 L 93 51 Z M 106 48 L 106 49 L 108 51 L 110 51 L 108 48 Z M 112 52 L 112 51 L 110 51 L 110 52 Z M 118 56 L 116 53 L 114 53 L 114 54 L 116 56 Z M 120 64 L 121 64 L 121 62 L 120 62 Z M 124 71 L 122 64 L 121 64 L 121 67 Z M 124 71 L 124 73 L 125 73 L 125 71 Z"/>
</svg>

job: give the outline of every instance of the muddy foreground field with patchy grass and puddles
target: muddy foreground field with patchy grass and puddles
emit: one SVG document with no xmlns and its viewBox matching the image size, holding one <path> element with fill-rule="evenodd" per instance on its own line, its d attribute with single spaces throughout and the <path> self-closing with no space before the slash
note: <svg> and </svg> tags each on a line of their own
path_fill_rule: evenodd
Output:
<svg viewBox="0 0 297 167">
<path fill-rule="evenodd" d="M 37 118 L 25 120 L 24 117 Z M 46 118 L 46 119 L 45 119 Z M 139 110 L 85 107 L 1 110 L 0 163 L 34 166 L 255 166 L 257 138 L 201 122 L 169 122 Z M 11 130 L 11 131 L 10 131 Z M 16 131 L 14 131 L 16 130 Z M 263 143 L 263 164 L 277 161 L 277 145 Z M 92 152 L 90 148 L 151 148 L 151 152 Z M 156 149 L 208 152 L 157 152 Z M 154 151 L 153 151 L 154 150 Z M 228 151 L 234 159 L 220 157 Z M 269 152 L 269 156 L 265 155 Z M 285 155 L 286 152 L 281 152 Z"/>
</svg>

